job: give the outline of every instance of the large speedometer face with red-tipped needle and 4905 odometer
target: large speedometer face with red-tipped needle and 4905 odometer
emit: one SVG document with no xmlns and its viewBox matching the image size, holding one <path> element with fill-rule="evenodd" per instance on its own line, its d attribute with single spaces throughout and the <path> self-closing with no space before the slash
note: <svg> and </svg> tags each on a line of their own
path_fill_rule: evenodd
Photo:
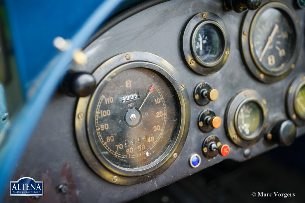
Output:
<svg viewBox="0 0 305 203">
<path fill-rule="evenodd" d="M 178 101 L 170 82 L 149 69 L 130 68 L 114 76 L 95 103 L 98 156 L 131 171 L 158 163 L 178 137 Z"/>
</svg>

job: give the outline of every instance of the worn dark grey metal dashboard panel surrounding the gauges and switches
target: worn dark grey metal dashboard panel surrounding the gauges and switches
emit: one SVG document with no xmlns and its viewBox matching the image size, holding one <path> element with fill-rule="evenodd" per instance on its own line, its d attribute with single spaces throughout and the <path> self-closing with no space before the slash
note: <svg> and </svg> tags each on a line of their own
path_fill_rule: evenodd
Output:
<svg viewBox="0 0 305 203">
<path fill-rule="evenodd" d="M 267 2 L 269 1 L 262 1 L 261 7 Z M 305 61 L 302 58 L 305 55 L 305 12 L 297 10 L 292 1 L 279 2 L 287 5 L 299 19 L 300 52 L 291 72 L 285 78 L 272 83 L 260 82 L 248 70 L 241 53 L 243 34 L 241 27 L 245 13 L 225 10 L 222 1 L 166 1 L 135 13 L 120 23 L 112 25 L 113 22 L 116 22 L 115 18 L 109 21 L 106 26 L 111 28 L 98 32 L 101 35 L 96 35 L 91 44 L 84 49 L 84 53 L 88 56 L 88 64 L 83 66 L 73 64 L 70 68 L 92 73 L 110 58 L 122 53 L 133 57 L 134 51 L 155 54 L 167 61 L 178 72 L 183 81 L 181 82 L 183 91 L 188 94 L 189 98 L 190 108 L 186 109 L 186 114 L 190 116 L 189 130 L 181 152 L 167 170 L 158 174 L 159 176 L 152 177 L 153 179 L 150 178 L 148 182 L 129 186 L 108 182 L 91 170 L 86 163 L 88 160 L 84 160 L 78 146 L 74 128 L 78 100 L 58 91 L 45 110 L 25 154 L 16 168 L 15 179 L 19 179 L 20 176 L 29 176 L 35 180 L 45 181 L 46 195 L 43 198 L 47 198 L 47 194 L 54 194 L 55 198 L 61 200 L 61 194 L 55 193 L 54 187 L 66 182 L 70 198 L 76 198 L 78 201 L 121 202 L 154 191 L 224 159 L 244 161 L 277 147 L 278 144 L 268 141 L 265 136 L 275 121 L 290 119 L 286 111 L 286 93 L 291 81 L 305 71 Z M 149 2 L 144 2 L 142 6 L 145 7 L 145 4 L 149 4 Z M 128 16 L 132 12 L 133 10 L 130 9 L 122 15 Z M 185 59 L 181 47 L 183 33 L 189 20 L 202 12 L 211 12 L 219 16 L 227 26 L 227 29 L 224 30 L 227 30 L 227 37 L 230 40 L 229 53 L 225 54 L 227 59 L 221 69 L 212 75 L 205 76 L 199 75 L 189 68 L 189 65 L 186 64 L 189 60 Z M 145 58 L 145 60 L 148 59 Z M 101 69 L 100 74 L 103 77 L 112 69 L 112 67 Z M 194 89 L 201 82 L 207 82 L 219 93 L 217 100 L 211 101 L 205 106 L 198 105 L 194 100 Z M 262 98 L 260 99 L 263 103 L 262 107 L 266 108 L 266 115 L 268 115 L 263 122 L 266 131 L 260 134 L 254 143 L 242 145 L 247 147 L 240 147 L 231 141 L 226 124 L 228 105 L 232 102 L 232 98 L 241 91 L 244 91 L 243 95 L 259 95 L 258 97 Z M 200 130 L 198 119 L 203 110 L 211 110 L 220 117 L 221 126 L 210 132 Z M 262 114 L 265 115 L 265 112 Z M 303 125 L 297 126 L 296 133 L 297 136 L 300 136 L 304 132 L 303 122 Z M 229 145 L 228 156 L 217 155 L 211 159 L 204 156 L 203 142 L 210 135 L 217 136 L 222 144 Z M 298 142 L 297 139 L 296 142 Z M 245 149 L 248 149 L 248 152 L 250 150 L 250 155 L 247 157 L 244 155 Z M 37 158 L 38 154 L 41 155 L 41 158 Z M 197 168 L 192 168 L 189 164 L 189 158 L 193 154 L 198 154 L 201 158 L 201 164 Z"/>
</svg>

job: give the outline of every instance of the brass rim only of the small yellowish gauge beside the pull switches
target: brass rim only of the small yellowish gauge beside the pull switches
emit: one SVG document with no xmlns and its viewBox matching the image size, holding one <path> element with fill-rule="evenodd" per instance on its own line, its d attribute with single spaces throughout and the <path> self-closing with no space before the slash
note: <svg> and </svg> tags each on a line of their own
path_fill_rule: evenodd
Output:
<svg viewBox="0 0 305 203">
<path fill-rule="evenodd" d="M 242 105 L 251 101 L 256 102 L 261 107 L 263 112 L 263 121 L 260 129 L 256 131 L 253 136 L 246 137 L 242 135 L 242 133 L 240 133 L 238 130 L 237 116 L 239 109 L 242 107 Z M 264 135 L 266 131 L 268 121 L 267 102 L 255 90 L 242 90 L 235 96 L 233 96 L 233 98 L 229 102 L 224 120 L 225 130 L 232 142 L 241 147 L 249 147 L 251 145 L 254 145 L 256 142 L 258 142 L 258 140 Z"/>
</svg>

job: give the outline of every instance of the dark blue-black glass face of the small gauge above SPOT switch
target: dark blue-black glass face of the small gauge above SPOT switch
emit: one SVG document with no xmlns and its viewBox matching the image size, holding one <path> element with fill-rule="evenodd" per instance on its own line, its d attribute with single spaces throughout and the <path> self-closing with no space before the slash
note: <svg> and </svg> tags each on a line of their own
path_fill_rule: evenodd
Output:
<svg viewBox="0 0 305 203">
<path fill-rule="evenodd" d="M 194 40 L 196 58 L 203 64 L 218 61 L 224 52 L 224 44 L 224 35 L 217 25 L 203 24 L 197 30 Z"/>
</svg>

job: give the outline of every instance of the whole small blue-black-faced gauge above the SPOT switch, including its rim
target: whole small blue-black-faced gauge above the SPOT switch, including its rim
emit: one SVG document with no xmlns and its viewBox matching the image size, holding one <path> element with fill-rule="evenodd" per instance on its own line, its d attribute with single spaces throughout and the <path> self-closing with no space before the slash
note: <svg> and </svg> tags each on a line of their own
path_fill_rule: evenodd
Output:
<svg viewBox="0 0 305 203">
<path fill-rule="evenodd" d="M 219 71 L 230 52 L 230 39 L 223 20 L 211 12 L 195 15 L 185 27 L 181 49 L 194 72 L 211 75 Z"/>
</svg>

